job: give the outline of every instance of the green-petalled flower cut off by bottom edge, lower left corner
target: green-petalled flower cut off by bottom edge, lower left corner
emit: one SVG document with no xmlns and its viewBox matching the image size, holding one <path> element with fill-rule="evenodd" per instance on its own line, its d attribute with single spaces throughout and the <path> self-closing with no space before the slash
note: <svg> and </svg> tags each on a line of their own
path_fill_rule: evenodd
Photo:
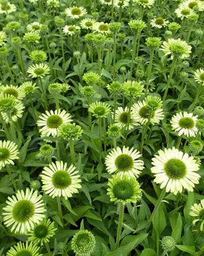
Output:
<svg viewBox="0 0 204 256">
<path fill-rule="evenodd" d="M 18 242 L 17 245 L 8 250 L 6 256 L 42 256 L 38 251 L 40 248 L 32 242 Z"/>
</svg>

